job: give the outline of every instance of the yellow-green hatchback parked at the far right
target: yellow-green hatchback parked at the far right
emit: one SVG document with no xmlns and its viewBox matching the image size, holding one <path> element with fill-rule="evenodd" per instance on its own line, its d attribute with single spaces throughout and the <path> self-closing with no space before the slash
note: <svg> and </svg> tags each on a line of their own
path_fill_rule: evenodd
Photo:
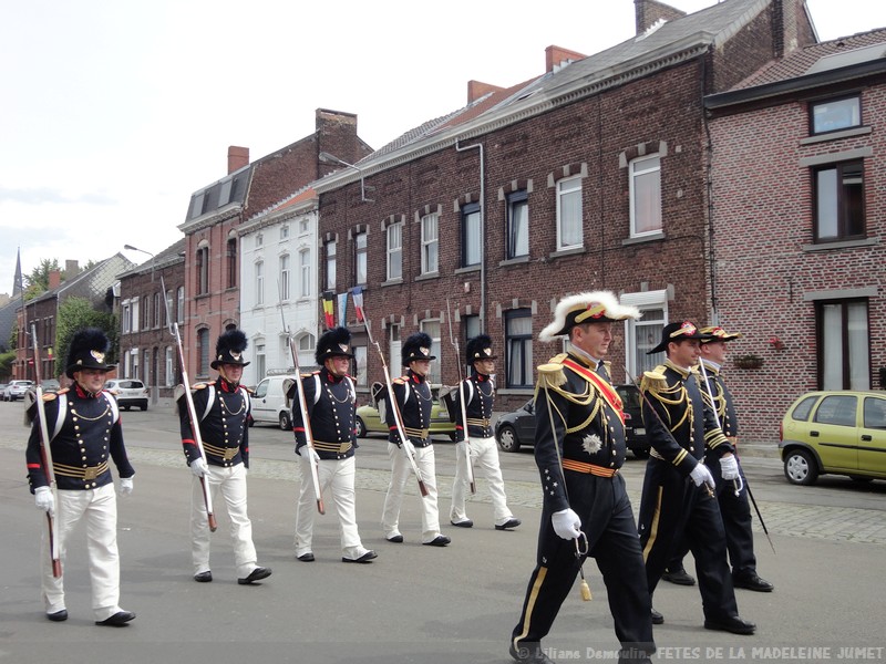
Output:
<svg viewBox="0 0 886 664">
<path fill-rule="evenodd" d="M 826 473 L 886 479 L 886 392 L 808 392 L 787 408 L 779 438 L 791 484 Z"/>
</svg>

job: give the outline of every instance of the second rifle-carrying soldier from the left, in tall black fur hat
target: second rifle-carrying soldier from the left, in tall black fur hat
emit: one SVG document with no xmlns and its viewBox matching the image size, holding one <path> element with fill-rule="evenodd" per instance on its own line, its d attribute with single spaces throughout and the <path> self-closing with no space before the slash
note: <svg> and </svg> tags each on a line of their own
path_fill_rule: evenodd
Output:
<svg viewBox="0 0 886 664">
<path fill-rule="evenodd" d="M 210 364 L 218 372 L 218 380 L 196 385 L 193 390 L 205 459 L 194 440 L 188 409 L 181 403 L 185 398 L 184 392 L 178 397 L 182 445 L 187 465 L 194 475 L 190 497 L 190 556 L 194 580 L 198 583 L 213 580 L 204 481 L 210 496 L 215 498 L 220 492 L 227 506 L 237 583 L 248 585 L 270 577 L 270 570 L 256 562 L 253 522 L 247 513 L 250 402 L 249 393 L 240 385 L 243 367 L 249 364 L 243 359 L 246 346 L 246 335 L 240 330 L 228 330 L 222 334 L 216 342 L 215 359 Z"/>
</svg>

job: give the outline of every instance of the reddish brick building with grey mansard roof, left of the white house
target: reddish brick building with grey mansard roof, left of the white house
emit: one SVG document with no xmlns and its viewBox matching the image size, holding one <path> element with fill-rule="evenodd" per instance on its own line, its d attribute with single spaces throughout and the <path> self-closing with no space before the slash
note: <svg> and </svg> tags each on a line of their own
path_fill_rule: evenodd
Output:
<svg viewBox="0 0 886 664">
<path fill-rule="evenodd" d="M 317 110 L 316 132 L 249 163 L 249 151 L 230 147 L 228 174 L 194 193 L 185 234 L 185 323 L 188 375 L 206 378 L 218 335 L 240 324 L 238 227 L 341 165 L 321 153 L 354 163 L 371 152 L 357 135 L 357 116 Z M 247 334 L 249 331 L 246 331 Z"/>
</svg>

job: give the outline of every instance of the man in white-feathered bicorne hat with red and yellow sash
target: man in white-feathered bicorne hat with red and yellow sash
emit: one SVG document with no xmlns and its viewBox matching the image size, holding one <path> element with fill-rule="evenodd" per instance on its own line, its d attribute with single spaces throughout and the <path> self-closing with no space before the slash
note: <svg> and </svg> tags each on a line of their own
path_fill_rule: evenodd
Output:
<svg viewBox="0 0 886 664">
<path fill-rule="evenodd" d="M 538 367 L 535 463 L 544 507 L 536 567 L 511 635 L 518 662 L 550 662 L 540 641 L 588 556 L 606 583 L 619 662 L 648 663 L 656 651 L 637 523 L 619 473 L 627 449 L 622 405 L 602 361 L 612 323 L 636 318 L 639 311 L 611 292 L 580 293 L 562 300 L 538 335 L 567 336 L 569 352 Z"/>
</svg>

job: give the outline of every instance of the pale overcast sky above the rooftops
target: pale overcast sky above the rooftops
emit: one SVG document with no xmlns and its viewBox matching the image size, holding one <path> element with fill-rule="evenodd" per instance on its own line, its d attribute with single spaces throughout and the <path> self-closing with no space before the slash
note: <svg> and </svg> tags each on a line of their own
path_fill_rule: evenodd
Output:
<svg viewBox="0 0 886 664">
<path fill-rule="evenodd" d="M 886 27 L 884 0 L 807 0 L 821 40 Z M 672 0 L 693 12 L 715 0 Z M 27 0 L 0 23 L 0 293 L 16 251 L 80 264 L 158 252 L 190 194 L 358 115 L 373 148 L 466 103 L 467 81 L 544 73 L 545 48 L 591 54 L 633 34 L 633 0 Z M 600 10 L 599 8 L 605 8 Z M 124 252 L 143 262 L 145 255 Z"/>
</svg>

